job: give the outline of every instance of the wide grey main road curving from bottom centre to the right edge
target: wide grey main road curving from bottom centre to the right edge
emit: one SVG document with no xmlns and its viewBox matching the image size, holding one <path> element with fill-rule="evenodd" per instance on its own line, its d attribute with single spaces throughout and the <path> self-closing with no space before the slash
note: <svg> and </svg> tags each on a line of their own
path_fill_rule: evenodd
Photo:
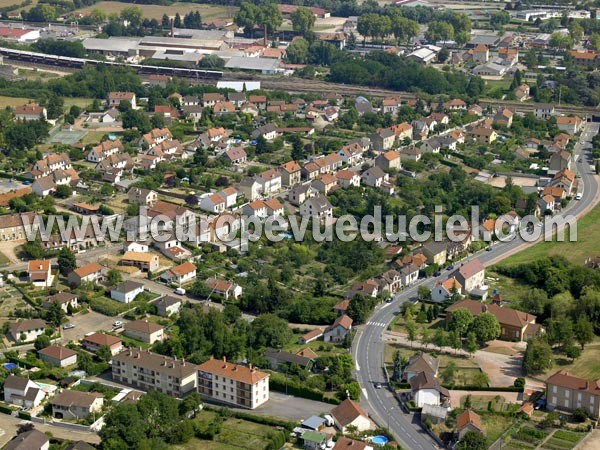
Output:
<svg viewBox="0 0 600 450">
<path fill-rule="evenodd" d="M 579 201 L 572 201 L 565 208 L 563 215 L 570 214 L 577 217 L 587 213 L 596 200 L 598 183 L 592 171 L 591 139 L 598 133 L 599 124 L 588 123 L 582 133 L 580 141 L 574 148 L 577 162 L 573 171 L 581 176 L 580 186 L 583 184 L 583 196 Z M 582 160 L 581 162 L 579 160 Z M 581 192 L 581 188 L 579 189 Z M 551 231 L 549 231 L 551 232 Z M 540 237 L 539 240 L 541 240 Z M 537 241 L 536 241 L 537 242 Z M 479 258 L 485 266 L 501 261 L 508 256 L 532 245 L 520 238 L 509 242 L 499 242 L 492 246 L 492 251 L 481 251 L 465 258 L 466 262 Z M 419 280 L 413 286 L 400 291 L 395 295 L 392 303 L 380 305 L 369 322 L 358 331 L 352 346 L 352 355 L 355 363 L 355 377 L 362 387 L 361 405 L 369 412 L 371 417 L 381 426 L 387 426 L 395 439 L 407 450 L 432 450 L 438 448 L 433 439 L 422 429 L 415 415 L 405 414 L 399 407 L 391 389 L 376 389 L 374 383 L 384 386 L 384 345 L 383 332 L 398 312 L 402 303 L 417 296 L 419 286 L 432 288 L 436 281 L 448 277 L 449 271 L 442 271 L 438 277 Z"/>
</svg>

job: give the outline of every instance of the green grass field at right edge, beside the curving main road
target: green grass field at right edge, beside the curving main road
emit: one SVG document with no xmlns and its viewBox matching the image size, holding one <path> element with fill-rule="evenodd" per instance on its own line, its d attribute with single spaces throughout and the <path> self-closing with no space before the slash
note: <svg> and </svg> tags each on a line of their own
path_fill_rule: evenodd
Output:
<svg viewBox="0 0 600 450">
<path fill-rule="evenodd" d="M 562 255 L 569 261 L 583 264 L 586 258 L 600 255 L 600 205 L 592 209 L 577 222 L 577 241 L 569 242 L 565 233 L 565 242 L 540 242 L 533 247 L 513 255 L 499 266 L 522 264 L 544 256 Z"/>
</svg>

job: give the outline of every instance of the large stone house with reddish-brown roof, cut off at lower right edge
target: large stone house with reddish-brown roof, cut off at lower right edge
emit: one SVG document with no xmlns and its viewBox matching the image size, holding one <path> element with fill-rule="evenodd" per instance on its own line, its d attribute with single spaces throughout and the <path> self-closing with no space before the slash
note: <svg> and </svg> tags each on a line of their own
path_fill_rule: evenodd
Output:
<svg viewBox="0 0 600 450">
<path fill-rule="evenodd" d="M 572 411 L 585 409 L 591 417 L 600 417 L 600 380 L 589 381 L 559 370 L 546 380 L 546 407 Z"/>
</svg>

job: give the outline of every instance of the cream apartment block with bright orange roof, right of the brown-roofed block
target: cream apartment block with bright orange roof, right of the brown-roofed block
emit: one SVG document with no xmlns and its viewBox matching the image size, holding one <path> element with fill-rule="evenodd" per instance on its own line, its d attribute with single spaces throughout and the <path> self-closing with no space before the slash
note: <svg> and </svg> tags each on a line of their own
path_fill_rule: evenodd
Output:
<svg viewBox="0 0 600 450">
<path fill-rule="evenodd" d="M 254 409 L 269 400 L 269 374 L 211 357 L 198 366 L 198 392 L 217 402 Z"/>
</svg>

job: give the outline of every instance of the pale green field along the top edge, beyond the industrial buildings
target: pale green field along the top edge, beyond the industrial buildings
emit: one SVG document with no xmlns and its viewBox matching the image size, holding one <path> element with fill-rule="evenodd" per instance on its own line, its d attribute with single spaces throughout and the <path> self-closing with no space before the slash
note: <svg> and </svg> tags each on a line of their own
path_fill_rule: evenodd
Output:
<svg viewBox="0 0 600 450">
<path fill-rule="evenodd" d="M 121 2 L 99 2 L 95 5 L 81 8 L 74 13 L 89 12 L 93 9 L 101 9 L 106 14 L 120 13 L 123 8 L 132 6 L 131 3 Z M 144 17 L 148 19 L 156 19 L 160 22 L 160 19 L 164 14 L 174 16 L 176 13 L 183 16 L 190 11 L 200 11 L 202 20 L 206 21 L 209 19 L 222 19 L 227 17 L 233 17 L 238 8 L 227 7 L 220 5 L 199 5 L 196 3 L 173 3 L 172 5 L 133 5 L 140 6 L 144 12 Z"/>
</svg>

